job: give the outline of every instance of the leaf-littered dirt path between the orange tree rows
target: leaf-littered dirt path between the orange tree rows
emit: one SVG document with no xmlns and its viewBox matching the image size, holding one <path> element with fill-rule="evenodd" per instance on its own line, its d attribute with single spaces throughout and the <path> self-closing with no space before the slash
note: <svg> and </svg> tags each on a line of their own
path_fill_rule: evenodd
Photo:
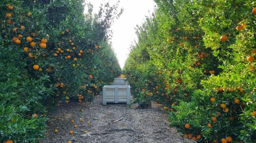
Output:
<svg viewBox="0 0 256 143">
<path fill-rule="evenodd" d="M 120 103 L 104 106 L 102 96 L 92 104 L 63 103 L 56 113 L 49 115 L 47 137 L 40 143 L 193 143 L 181 137 L 175 129 L 169 129 L 163 113 L 160 104 L 153 104 L 149 109 L 129 108 Z M 75 122 L 71 123 L 71 120 Z M 74 128 L 75 124 L 77 128 Z M 57 133 L 55 129 L 58 129 Z"/>
</svg>

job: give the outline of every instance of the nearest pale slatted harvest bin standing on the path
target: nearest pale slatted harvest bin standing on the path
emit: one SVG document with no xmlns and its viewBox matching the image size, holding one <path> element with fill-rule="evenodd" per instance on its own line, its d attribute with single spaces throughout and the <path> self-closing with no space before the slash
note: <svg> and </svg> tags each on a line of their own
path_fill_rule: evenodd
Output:
<svg viewBox="0 0 256 143">
<path fill-rule="evenodd" d="M 103 86 L 103 105 L 107 103 L 130 104 L 129 85 L 105 85 Z"/>
</svg>

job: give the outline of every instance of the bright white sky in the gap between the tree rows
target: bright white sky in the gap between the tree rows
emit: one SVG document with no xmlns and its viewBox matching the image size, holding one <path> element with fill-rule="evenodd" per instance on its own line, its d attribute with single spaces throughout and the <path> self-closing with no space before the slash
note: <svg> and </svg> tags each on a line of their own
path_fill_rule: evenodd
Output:
<svg viewBox="0 0 256 143">
<path fill-rule="evenodd" d="M 93 12 L 98 13 L 100 4 L 109 0 L 86 0 L 93 5 Z M 117 0 L 111 0 L 113 5 Z M 118 20 L 112 24 L 113 31 L 112 47 L 116 53 L 120 67 L 123 68 L 129 55 L 129 47 L 134 40 L 137 41 L 135 34 L 136 24 L 141 25 L 145 20 L 145 15 L 150 15 L 154 11 L 155 2 L 153 0 L 120 0 L 119 7 L 124 8 Z M 149 11 L 149 12 L 148 12 Z"/>
</svg>

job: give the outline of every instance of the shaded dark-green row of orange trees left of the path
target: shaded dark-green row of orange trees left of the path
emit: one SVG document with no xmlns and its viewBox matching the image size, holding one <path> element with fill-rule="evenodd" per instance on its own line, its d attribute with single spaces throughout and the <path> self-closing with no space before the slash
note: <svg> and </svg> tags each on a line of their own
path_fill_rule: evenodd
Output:
<svg viewBox="0 0 256 143">
<path fill-rule="evenodd" d="M 88 12 L 83 13 L 88 6 Z M 38 142 L 47 110 L 90 102 L 120 75 L 108 44 L 122 10 L 83 0 L 2 0 L 0 3 L 0 142 Z"/>
</svg>

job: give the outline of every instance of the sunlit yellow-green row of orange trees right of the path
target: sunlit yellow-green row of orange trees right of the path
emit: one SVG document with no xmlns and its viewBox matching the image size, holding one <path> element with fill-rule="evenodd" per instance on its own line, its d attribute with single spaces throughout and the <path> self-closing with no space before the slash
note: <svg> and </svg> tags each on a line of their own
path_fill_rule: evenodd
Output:
<svg viewBox="0 0 256 143">
<path fill-rule="evenodd" d="M 196 142 L 255 143 L 255 1 L 155 2 L 123 69 L 134 103 Z"/>
</svg>

